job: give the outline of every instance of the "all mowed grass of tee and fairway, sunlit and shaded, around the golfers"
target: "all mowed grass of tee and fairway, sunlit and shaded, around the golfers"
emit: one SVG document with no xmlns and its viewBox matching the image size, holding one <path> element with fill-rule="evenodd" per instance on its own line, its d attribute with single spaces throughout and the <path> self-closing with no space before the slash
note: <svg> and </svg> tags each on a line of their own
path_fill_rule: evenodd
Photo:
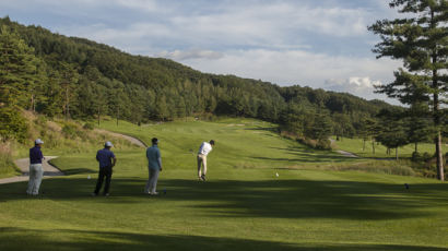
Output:
<svg viewBox="0 0 448 251">
<path fill-rule="evenodd" d="M 143 194 L 143 148 L 116 151 L 109 198 L 90 196 L 95 153 L 60 157 L 69 176 L 44 180 L 42 196 L 24 195 L 26 183 L 0 186 L 0 250 L 448 250 L 448 187 L 436 180 L 313 170 L 350 163 L 255 120 L 103 125 L 161 139 L 166 194 Z M 194 155 L 210 139 L 199 182 Z M 298 163 L 308 169 L 282 168 Z"/>
</svg>

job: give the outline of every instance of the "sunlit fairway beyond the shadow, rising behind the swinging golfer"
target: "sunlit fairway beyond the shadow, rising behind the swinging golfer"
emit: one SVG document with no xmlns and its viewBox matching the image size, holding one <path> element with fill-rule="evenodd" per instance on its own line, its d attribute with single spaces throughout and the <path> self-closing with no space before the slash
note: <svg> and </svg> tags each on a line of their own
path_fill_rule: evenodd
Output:
<svg viewBox="0 0 448 251">
<path fill-rule="evenodd" d="M 135 127 L 128 122 L 105 121 L 102 128 L 137 136 L 146 144 L 160 140 L 164 162 L 169 167 L 196 166 L 196 154 L 203 141 L 215 140 L 213 162 L 217 168 L 280 168 L 292 165 L 346 163 L 352 158 L 329 151 L 316 151 L 295 141 L 282 139 L 275 124 L 250 119 L 219 122 L 169 122 Z"/>
</svg>

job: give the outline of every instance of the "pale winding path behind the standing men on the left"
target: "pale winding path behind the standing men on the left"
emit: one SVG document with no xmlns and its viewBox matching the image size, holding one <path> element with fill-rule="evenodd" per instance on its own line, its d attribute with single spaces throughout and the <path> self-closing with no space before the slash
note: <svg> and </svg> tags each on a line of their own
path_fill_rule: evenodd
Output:
<svg viewBox="0 0 448 251">
<path fill-rule="evenodd" d="M 121 133 L 116 133 L 116 132 L 110 132 L 106 130 L 96 130 L 99 133 L 107 133 L 113 136 L 121 138 L 125 140 L 128 140 L 132 144 L 135 144 L 140 147 L 148 147 L 144 142 L 140 141 L 137 138 L 125 135 Z M 45 156 L 45 159 L 43 162 L 43 168 L 44 168 L 44 178 L 51 178 L 55 176 L 63 176 L 63 172 L 59 170 L 57 167 L 52 166 L 49 160 L 57 158 L 58 156 Z M 11 178 L 4 178 L 0 179 L 0 184 L 3 183 L 12 183 L 12 182 L 21 182 L 21 181 L 27 181 L 30 179 L 30 158 L 20 158 L 14 160 L 14 164 L 19 167 L 19 169 L 22 171 L 22 176 L 16 176 L 16 177 L 11 177 Z"/>
</svg>

